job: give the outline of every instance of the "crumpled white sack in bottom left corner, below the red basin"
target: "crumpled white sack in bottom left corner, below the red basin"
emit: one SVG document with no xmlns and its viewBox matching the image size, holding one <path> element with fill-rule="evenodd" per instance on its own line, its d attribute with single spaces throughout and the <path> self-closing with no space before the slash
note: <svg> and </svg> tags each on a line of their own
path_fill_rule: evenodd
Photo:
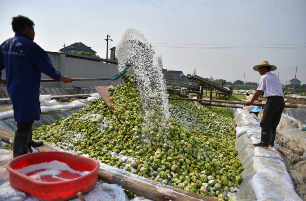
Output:
<svg viewBox="0 0 306 201">
<path fill-rule="evenodd" d="M 0 186 L 0 201 L 23 201 L 30 195 L 13 186 L 9 182 Z"/>
</svg>

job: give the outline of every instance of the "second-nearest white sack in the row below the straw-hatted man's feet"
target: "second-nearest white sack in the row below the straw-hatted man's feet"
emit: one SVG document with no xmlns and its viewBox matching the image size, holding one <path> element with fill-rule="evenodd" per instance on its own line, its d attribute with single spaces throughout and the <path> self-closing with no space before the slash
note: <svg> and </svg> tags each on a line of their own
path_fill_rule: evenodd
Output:
<svg viewBox="0 0 306 201">
<path fill-rule="evenodd" d="M 254 173 L 266 173 L 270 177 L 282 177 L 288 180 L 288 183 L 294 186 L 285 163 L 281 160 L 265 157 L 253 157 Z"/>
</svg>

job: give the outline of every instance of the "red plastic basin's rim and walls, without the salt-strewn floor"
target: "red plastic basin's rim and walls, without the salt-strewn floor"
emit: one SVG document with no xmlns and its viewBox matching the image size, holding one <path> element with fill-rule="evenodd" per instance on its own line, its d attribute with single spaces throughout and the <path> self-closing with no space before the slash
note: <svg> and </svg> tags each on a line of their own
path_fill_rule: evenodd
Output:
<svg viewBox="0 0 306 201">
<path fill-rule="evenodd" d="M 26 166 L 55 160 L 66 163 L 76 171 L 90 173 L 67 181 L 45 182 L 16 171 Z M 9 182 L 13 187 L 48 201 L 73 199 L 77 197 L 78 192 L 84 194 L 90 191 L 97 184 L 99 167 L 99 162 L 92 158 L 58 151 L 25 154 L 6 164 L 6 169 L 9 171 Z"/>
</svg>

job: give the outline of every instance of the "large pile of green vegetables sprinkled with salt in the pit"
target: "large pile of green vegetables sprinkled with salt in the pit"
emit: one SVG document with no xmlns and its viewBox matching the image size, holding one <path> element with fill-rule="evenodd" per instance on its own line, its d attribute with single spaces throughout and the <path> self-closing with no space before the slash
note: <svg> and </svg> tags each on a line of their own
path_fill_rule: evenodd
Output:
<svg viewBox="0 0 306 201">
<path fill-rule="evenodd" d="M 163 184 L 231 200 L 243 170 L 235 157 L 232 110 L 170 100 L 166 127 L 158 107 L 152 111 L 156 119 L 144 123 L 141 95 L 131 80 L 116 90 L 111 87 L 113 113 L 99 98 L 67 118 L 35 128 L 33 137 Z"/>
</svg>

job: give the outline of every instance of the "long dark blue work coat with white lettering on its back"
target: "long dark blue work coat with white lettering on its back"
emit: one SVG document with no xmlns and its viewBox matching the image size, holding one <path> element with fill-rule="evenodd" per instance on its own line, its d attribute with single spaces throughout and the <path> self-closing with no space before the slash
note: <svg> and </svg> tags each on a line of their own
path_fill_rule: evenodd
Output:
<svg viewBox="0 0 306 201">
<path fill-rule="evenodd" d="M 53 67 L 47 52 L 21 32 L 4 41 L 0 48 L 0 76 L 5 69 L 15 121 L 40 120 L 41 73 L 55 80 L 59 80 L 61 74 Z"/>
</svg>

